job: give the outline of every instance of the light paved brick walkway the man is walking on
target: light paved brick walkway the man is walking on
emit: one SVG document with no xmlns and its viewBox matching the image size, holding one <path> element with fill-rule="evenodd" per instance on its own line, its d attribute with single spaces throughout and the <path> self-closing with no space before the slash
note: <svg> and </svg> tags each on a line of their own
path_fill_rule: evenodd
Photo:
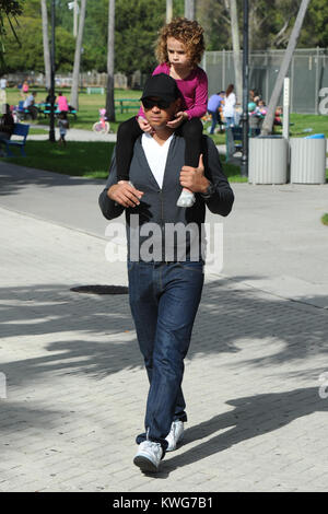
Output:
<svg viewBox="0 0 328 514">
<path fill-rule="evenodd" d="M 144 476 L 128 297 L 71 291 L 127 284 L 105 259 L 103 184 L 0 163 L 0 490 L 327 490 L 327 185 L 233 185 L 186 360 L 185 442 Z"/>
</svg>

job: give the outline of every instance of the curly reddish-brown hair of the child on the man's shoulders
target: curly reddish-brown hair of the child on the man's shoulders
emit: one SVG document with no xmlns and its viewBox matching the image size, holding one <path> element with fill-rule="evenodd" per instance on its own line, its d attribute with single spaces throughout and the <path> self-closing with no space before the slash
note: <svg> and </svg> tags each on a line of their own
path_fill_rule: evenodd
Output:
<svg viewBox="0 0 328 514">
<path fill-rule="evenodd" d="M 204 50 L 203 30 L 196 21 L 186 17 L 175 17 L 160 31 L 156 46 L 156 58 L 160 63 L 167 62 L 167 37 L 174 37 L 186 46 L 190 65 L 195 68 L 200 61 Z"/>
</svg>

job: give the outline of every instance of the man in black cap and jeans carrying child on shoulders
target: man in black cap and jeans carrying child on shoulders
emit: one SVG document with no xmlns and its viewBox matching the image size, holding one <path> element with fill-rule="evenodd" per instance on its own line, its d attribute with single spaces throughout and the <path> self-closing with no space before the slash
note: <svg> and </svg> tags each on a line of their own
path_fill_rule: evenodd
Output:
<svg viewBox="0 0 328 514">
<path fill-rule="evenodd" d="M 164 73 L 151 77 L 141 100 L 153 132 L 134 144 L 130 184 L 117 184 L 114 157 L 99 206 L 108 220 L 126 209 L 130 307 L 150 382 L 145 433 L 137 437 L 133 462 L 142 471 L 156 471 L 165 453 L 181 440 L 187 421 L 184 359 L 203 285 L 201 238 L 191 241 L 192 231 L 186 230 L 180 252 L 181 245 L 167 244 L 167 227 L 192 224 L 200 233 L 206 205 L 211 212 L 227 215 L 234 196 L 211 139 L 203 137 L 199 166 L 184 166 L 184 138 L 167 127 L 180 108 L 175 80 Z M 196 194 L 191 208 L 176 206 L 181 187 Z M 149 225 L 160 234 L 152 245 L 147 244 Z M 144 252 L 150 246 L 153 257 Z"/>
</svg>

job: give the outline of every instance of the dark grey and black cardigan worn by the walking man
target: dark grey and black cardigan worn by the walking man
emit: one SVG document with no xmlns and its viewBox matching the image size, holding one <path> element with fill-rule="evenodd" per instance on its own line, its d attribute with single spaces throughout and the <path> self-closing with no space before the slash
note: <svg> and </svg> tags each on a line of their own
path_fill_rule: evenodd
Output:
<svg viewBox="0 0 328 514">
<path fill-rule="evenodd" d="M 204 163 L 204 175 L 214 185 L 211 198 L 204 199 L 201 194 L 196 194 L 196 202 L 192 207 L 177 207 L 176 202 L 181 191 L 179 184 L 180 170 L 185 161 L 185 140 L 175 136 L 171 142 L 162 189 L 157 185 L 145 159 L 141 137 L 136 141 L 133 157 L 130 165 L 130 180 L 134 187 L 144 192 L 140 206 L 125 209 L 107 196 L 110 186 L 117 183 L 115 154 L 112 161 L 109 176 L 105 189 L 99 196 L 99 207 L 107 220 L 118 218 L 126 210 L 128 250 L 130 249 L 130 237 L 133 231 L 131 225 L 137 224 L 139 232 L 145 223 L 155 223 L 162 230 L 162 240 L 165 240 L 164 227 L 167 224 L 183 223 L 189 225 L 196 223 L 201 227 L 206 220 L 206 206 L 211 212 L 226 217 L 234 202 L 234 194 L 222 171 L 219 152 L 213 141 L 207 136 L 202 137 L 202 154 Z M 138 214 L 131 223 L 131 214 Z M 138 234 L 140 245 L 145 237 Z M 128 252 L 129 253 L 129 252 Z"/>
</svg>

